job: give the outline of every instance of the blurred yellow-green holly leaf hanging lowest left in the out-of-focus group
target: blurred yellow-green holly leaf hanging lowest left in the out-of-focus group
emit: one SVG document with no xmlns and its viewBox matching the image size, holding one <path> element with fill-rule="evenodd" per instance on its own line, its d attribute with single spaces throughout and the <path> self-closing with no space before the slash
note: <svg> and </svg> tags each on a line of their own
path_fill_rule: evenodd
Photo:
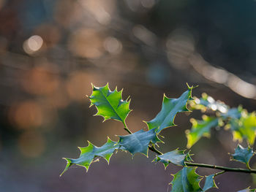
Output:
<svg viewBox="0 0 256 192">
<path fill-rule="evenodd" d="M 201 137 L 210 137 L 211 128 L 219 125 L 218 118 L 203 115 L 203 120 L 191 119 L 192 128 L 187 130 L 187 148 L 192 147 Z"/>
</svg>

